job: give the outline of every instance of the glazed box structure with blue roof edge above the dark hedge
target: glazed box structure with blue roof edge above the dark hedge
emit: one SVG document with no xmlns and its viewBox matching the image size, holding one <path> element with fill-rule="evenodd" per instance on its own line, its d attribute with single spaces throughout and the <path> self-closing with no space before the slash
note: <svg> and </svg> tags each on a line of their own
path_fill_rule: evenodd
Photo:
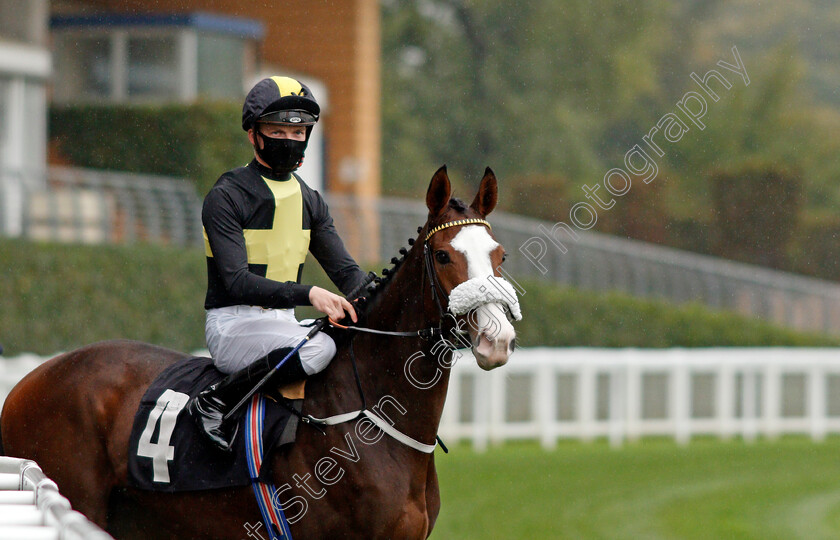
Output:
<svg viewBox="0 0 840 540">
<path fill-rule="evenodd" d="M 56 16 L 52 28 L 64 103 L 239 98 L 262 37 L 260 23 L 208 14 Z"/>
</svg>

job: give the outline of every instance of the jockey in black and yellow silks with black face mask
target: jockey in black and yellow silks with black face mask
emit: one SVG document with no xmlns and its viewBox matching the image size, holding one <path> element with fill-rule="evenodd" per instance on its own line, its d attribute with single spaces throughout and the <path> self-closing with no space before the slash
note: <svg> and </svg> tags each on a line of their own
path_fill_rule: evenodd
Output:
<svg viewBox="0 0 840 540">
<path fill-rule="evenodd" d="M 307 251 L 345 294 L 365 278 L 333 226 L 321 195 L 294 173 L 321 110 L 312 92 L 289 77 L 261 80 L 242 108 L 254 147 L 245 167 L 224 173 L 204 199 L 207 255 L 205 337 L 216 367 L 229 374 L 187 406 L 200 430 L 230 451 L 236 436 L 224 415 L 306 336 L 294 307 L 311 305 L 333 320 L 353 306 L 342 296 L 300 283 Z M 269 380 L 273 387 L 323 370 L 335 355 L 318 333 Z"/>
</svg>

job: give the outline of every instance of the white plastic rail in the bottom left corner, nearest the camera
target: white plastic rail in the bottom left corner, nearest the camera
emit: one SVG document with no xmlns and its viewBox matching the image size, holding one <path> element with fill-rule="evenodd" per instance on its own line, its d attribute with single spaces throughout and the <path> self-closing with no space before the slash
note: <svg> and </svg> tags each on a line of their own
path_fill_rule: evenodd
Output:
<svg viewBox="0 0 840 540">
<path fill-rule="evenodd" d="M 34 461 L 0 457 L 0 538 L 6 540 L 113 540 L 70 509 Z"/>
</svg>

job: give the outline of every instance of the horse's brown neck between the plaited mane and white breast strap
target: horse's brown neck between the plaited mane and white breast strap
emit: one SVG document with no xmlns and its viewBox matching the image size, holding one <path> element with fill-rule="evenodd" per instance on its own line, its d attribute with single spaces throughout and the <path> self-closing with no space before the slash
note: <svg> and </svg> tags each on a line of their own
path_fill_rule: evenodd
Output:
<svg viewBox="0 0 840 540">
<path fill-rule="evenodd" d="M 418 330 L 437 325 L 430 303 L 429 281 L 424 279 L 423 259 L 415 249 L 380 293 L 365 322 L 379 330 Z M 421 283 L 423 284 L 421 287 Z M 357 335 L 352 342 L 367 406 L 392 421 L 397 429 L 427 444 L 434 441 L 440 423 L 449 372 L 445 347 L 418 338 Z M 349 347 L 343 347 L 349 356 Z M 341 354 L 341 353 L 340 353 Z M 351 368 L 352 370 L 352 368 Z M 356 383 L 347 369 L 329 370 L 327 386 L 343 387 L 334 396 L 358 407 Z M 434 383 L 434 384 L 432 384 Z M 339 397 L 340 396 L 340 397 Z"/>
</svg>

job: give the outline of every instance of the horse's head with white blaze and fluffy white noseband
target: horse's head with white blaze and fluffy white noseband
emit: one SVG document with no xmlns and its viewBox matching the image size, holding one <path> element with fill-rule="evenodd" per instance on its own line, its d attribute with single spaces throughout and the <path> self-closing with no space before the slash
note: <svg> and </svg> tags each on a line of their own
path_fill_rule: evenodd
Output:
<svg viewBox="0 0 840 540">
<path fill-rule="evenodd" d="M 441 309 L 467 331 L 478 365 L 490 370 L 507 363 L 515 346 L 508 315 L 521 319 L 516 292 L 499 272 L 505 250 L 485 221 L 498 200 L 496 176 L 489 168 L 484 172 L 469 207 L 451 192 L 444 166 L 426 193 L 429 219 L 420 238 L 426 270 L 438 287 Z"/>
</svg>

